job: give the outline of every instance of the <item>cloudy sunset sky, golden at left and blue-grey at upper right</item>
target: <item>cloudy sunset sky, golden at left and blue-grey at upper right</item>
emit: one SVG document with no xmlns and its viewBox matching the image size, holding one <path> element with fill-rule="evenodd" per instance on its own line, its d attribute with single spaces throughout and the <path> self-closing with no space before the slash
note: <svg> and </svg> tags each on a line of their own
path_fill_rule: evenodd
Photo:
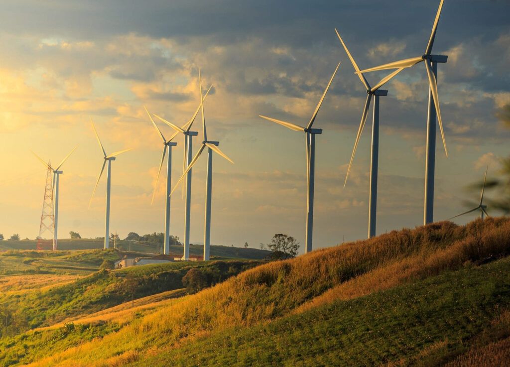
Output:
<svg viewBox="0 0 510 367">
<path fill-rule="evenodd" d="M 0 4 L 0 233 L 38 235 L 46 171 L 31 150 L 62 167 L 59 237 L 103 235 L 105 177 L 88 203 L 103 164 L 92 119 L 107 153 L 133 148 L 112 163 L 111 231 L 160 232 L 164 179 L 152 191 L 163 144 L 144 106 L 175 124 L 205 89 L 208 137 L 234 165 L 214 157 L 211 242 L 250 247 L 287 233 L 304 247 L 305 146 L 302 133 L 258 117 L 304 125 L 338 62 L 314 127 L 314 248 L 367 235 L 370 117 L 343 187 L 366 97 L 334 29 L 360 67 L 421 56 L 439 1 L 368 0 L 145 2 L 110 0 Z M 510 3 L 446 0 L 434 53 L 449 156 L 439 129 L 435 220 L 467 209 L 467 190 L 497 174 L 510 130 L 496 115 L 510 104 Z M 377 233 L 423 222 L 428 98 L 419 64 L 402 71 L 380 100 Z M 375 84 L 386 72 L 367 74 Z M 371 116 L 371 113 L 370 113 Z M 172 130 L 158 122 L 165 136 Z M 201 142 L 194 129 L 194 151 Z M 183 139 L 173 148 L 180 177 Z M 193 169 L 191 242 L 203 243 L 205 155 Z M 163 175 L 165 172 L 163 172 Z M 171 200 L 171 234 L 184 237 L 184 202 Z M 490 208 L 488 208 L 491 214 Z M 492 213 L 497 214 L 497 213 Z M 458 219 L 458 223 L 473 216 Z"/>
</svg>

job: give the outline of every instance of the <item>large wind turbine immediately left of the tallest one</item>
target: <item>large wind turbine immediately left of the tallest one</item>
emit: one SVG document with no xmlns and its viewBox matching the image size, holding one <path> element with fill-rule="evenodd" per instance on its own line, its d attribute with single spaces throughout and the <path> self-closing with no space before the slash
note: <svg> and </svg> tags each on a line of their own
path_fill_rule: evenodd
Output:
<svg viewBox="0 0 510 367">
<path fill-rule="evenodd" d="M 349 49 L 345 45 L 342 37 L 338 33 L 335 28 L 335 32 L 337 33 L 338 39 L 344 46 L 345 52 L 349 57 L 352 66 L 356 72 L 360 71 L 358 64 L 354 61 Z M 352 161 L 354 160 L 354 154 L 356 153 L 356 148 L 358 148 L 358 143 L 360 142 L 361 134 L 363 133 L 363 128 L 365 127 L 365 122 L 367 121 L 368 109 L 370 107 L 370 100 L 372 96 L 374 97 L 374 115 L 372 119 L 372 149 L 371 149 L 371 159 L 370 159 L 370 193 L 369 193 L 369 203 L 368 203 L 368 238 L 372 238 L 375 235 L 375 220 L 376 220 L 376 212 L 377 212 L 377 166 L 379 162 L 379 96 L 388 95 L 387 90 L 379 89 L 386 83 L 388 83 L 395 75 L 397 75 L 404 68 L 399 68 L 382 78 L 379 83 L 377 83 L 374 87 L 370 87 L 368 84 L 365 75 L 362 73 L 358 73 L 360 77 L 361 83 L 367 88 L 367 99 L 365 101 L 365 108 L 363 109 L 363 113 L 361 115 L 360 127 L 358 129 L 358 135 L 356 136 L 356 141 L 354 142 L 354 148 L 352 149 L 352 155 L 349 162 L 349 168 L 347 169 L 347 174 L 345 175 L 344 187 L 347 183 L 347 178 L 349 177 L 349 172 L 352 166 Z"/>
</svg>

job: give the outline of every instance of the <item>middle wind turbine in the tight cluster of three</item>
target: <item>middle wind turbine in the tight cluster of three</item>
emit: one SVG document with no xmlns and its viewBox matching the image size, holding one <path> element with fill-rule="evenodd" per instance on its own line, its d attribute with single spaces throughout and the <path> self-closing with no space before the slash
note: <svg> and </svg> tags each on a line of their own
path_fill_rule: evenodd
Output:
<svg viewBox="0 0 510 367">
<path fill-rule="evenodd" d="M 207 95 L 209 94 L 209 91 L 211 90 L 213 86 L 211 85 L 203 98 L 200 99 L 200 104 L 198 105 L 197 109 L 195 110 L 195 113 L 191 117 L 191 120 L 189 120 L 183 127 L 179 127 L 164 118 L 156 116 L 158 119 L 172 127 L 176 130 L 176 132 L 182 133 L 184 135 L 184 166 L 183 166 L 183 173 L 186 171 L 186 169 L 189 167 L 191 163 L 192 158 L 192 152 L 193 152 L 193 137 L 198 135 L 198 132 L 190 131 L 191 126 L 193 125 L 193 122 L 195 121 L 196 116 L 198 115 L 198 112 L 200 111 L 200 108 L 202 106 L 203 100 L 206 99 Z M 201 90 L 200 90 L 201 92 Z M 185 192 L 185 204 L 184 204 L 184 255 L 183 260 L 189 260 L 190 255 L 190 220 L 191 220 L 191 170 L 187 171 L 187 177 L 186 177 L 186 192 Z"/>
</svg>

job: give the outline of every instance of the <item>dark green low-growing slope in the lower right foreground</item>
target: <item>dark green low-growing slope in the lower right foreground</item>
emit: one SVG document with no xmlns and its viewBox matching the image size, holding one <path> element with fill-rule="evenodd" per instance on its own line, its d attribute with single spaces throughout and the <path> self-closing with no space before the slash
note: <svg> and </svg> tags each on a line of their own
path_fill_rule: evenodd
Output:
<svg viewBox="0 0 510 367">
<path fill-rule="evenodd" d="M 463 352 L 508 306 L 510 259 L 506 258 L 336 301 L 267 325 L 228 330 L 129 365 L 157 367 L 172 361 L 175 366 L 304 367 L 398 362 L 431 367 Z"/>
</svg>

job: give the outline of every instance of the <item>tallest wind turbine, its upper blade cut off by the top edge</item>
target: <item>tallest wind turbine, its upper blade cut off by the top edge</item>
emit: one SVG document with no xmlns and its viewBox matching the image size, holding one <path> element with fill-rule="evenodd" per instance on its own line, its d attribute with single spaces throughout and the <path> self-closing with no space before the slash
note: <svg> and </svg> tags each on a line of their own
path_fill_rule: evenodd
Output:
<svg viewBox="0 0 510 367">
<path fill-rule="evenodd" d="M 436 14 L 436 19 L 432 25 L 432 33 L 427 43 L 427 48 L 422 56 L 418 56 L 411 59 L 405 59 L 400 61 L 391 62 L 380 66 L 375 66 L 369 69 L 361 70 L 358 73 L 365 73 L 376 70 L 387 70 L 387 69 L 400 69 L 414 66 L 420 62 L 424 62 L 425 69 L 427 71 L 429 81 L 429 92 L 428 92 L 428 117 L 427 117 L 427 153 L 425 161 L 425 200 L 424 200 L 424 211 L 423 211 L 423 224 L 431 223 L 433 221 L 433 209 L 434 209 L 434 174 L 436 166 L 436 116 L 439 122 L 439 128 L 441 130 L 441 138 L 443 139 L 443 145 L 445 148 L 446 157 L 448 157 L 448 150 L 446 149 L 445 135 L 443 131 L 443 121 L 441 120 L 441 110 L 439 108 L 439 96 L 438 96 L 438 63 L 446 63 L 448 56 L 444 55 L 432 55 L 432 45 L 436 38 L 436 31 L 438 28 L 439 17 L 441 16 L 441 10 L 443 9 L 444 0 L 441 0 Z"/>
</svg>

